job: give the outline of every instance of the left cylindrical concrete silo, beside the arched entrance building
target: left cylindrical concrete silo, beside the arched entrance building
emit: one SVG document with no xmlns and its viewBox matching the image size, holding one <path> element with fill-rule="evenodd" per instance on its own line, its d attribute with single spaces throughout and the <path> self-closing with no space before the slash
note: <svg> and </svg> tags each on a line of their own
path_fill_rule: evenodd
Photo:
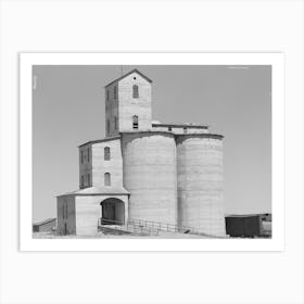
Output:
<svg viewBox="0 0 304 304">
<path fill-rule="evenodd" d="M 177 224 L 176 143 L 173 134 L 122 134 L 129 218 Z"/>
</svg>

